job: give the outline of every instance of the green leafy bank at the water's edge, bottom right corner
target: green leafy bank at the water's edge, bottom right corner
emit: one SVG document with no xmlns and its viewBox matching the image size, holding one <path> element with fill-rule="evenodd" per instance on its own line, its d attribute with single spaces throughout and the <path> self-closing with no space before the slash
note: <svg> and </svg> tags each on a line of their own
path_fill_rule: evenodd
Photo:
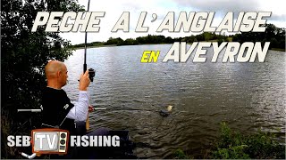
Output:
<svg viewBox="0 0 286 160">
<path fill-rule="evenodd" d="M 214 146 L 202 153 L 203 157 L 194 157 L 177 149 L 173 158 L 189 159 L 285 159 L 285 145 L 279 144 L 273 133 L 257 132 L 244 135 L 231 131 L 227 124 L 221 124 L 220 137 L 214 141 Z"/>
</svg>

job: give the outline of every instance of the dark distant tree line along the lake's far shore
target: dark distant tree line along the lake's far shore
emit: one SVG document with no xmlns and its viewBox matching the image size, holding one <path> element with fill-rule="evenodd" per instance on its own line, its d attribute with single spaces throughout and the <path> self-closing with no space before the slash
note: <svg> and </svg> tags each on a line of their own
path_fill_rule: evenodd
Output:
<svg viewBox="0 0 286 160">
<path fill-rule="evenodd" d="M 87 46 L 98 45 L 137 45 L 137 44 L 172 44 L 174 42 L 201 42 L 201 41 L 215 41 L 219 44 L 223 42 L 271 42 L 270 49 L 279 48 L 285 50 L 285 28 L 277 28 L 273 24 L 265 24 L 265 32 L 243 32 L 235 35 L 219 35 L 215 33 L 204 32 L 196 36 L 175 37 L 171 36 L 156 36 L 147 35 L 139 36 L 137 38 L 128 38 L 123 40 L 121 37 L 110 37 L 106 42 L 93 42 Z M 73 47 L 84 47 L 85 44 L 76 44 Z"/>
</svg>

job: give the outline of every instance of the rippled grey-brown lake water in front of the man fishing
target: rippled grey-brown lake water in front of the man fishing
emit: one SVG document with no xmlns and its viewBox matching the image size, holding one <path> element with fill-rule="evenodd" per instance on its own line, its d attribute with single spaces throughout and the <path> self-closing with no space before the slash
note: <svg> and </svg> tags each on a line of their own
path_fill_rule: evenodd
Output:
<svg viewBox="0 0 286 160">
<path fill-rule="evenodd" d="M 162 62 L 172 44 L 115 46 L 88 49 L 88 68 L 96 69 L 89 103 L 96 108 L 90 127 L 129 130 L 139 157 L 165 158 L 181 148 L 200 154 L 219 135 L 220 123 L 240 132 L 285 135 L 286 54 L 268 51 L 264 63 Z M 161 51 L 156 63 L 141 63 L 145 50 Z M 69 84 L 77 100 L 84 50 L 65 61 Z M 172 105 L 172 114 L 158 111 Z"/>
</svg>

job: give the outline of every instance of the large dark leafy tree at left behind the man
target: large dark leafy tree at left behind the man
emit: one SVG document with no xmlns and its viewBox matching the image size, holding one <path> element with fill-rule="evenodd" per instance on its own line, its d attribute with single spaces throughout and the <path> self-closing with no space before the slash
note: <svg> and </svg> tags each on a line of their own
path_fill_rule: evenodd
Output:
<svg viewBox="0 0 286 160">
<path fill-rule="evenodd" d="M 44 67 L 47 60 L 65 60 L 71 55 L 66 49 L 70 42 L 59 33 L 45 32 L 46 26 L 31 32 L 37 12 L 52 11 L 84 10 L 75 0 L 1 1 L 1 152 L 6 158 L 15 154 L 6 152 L 5 140 L 8 134 L 14 133 L 19 121 L 16 109 L 39 108 L 41 86 L 46 86 Z"/>
</svg>

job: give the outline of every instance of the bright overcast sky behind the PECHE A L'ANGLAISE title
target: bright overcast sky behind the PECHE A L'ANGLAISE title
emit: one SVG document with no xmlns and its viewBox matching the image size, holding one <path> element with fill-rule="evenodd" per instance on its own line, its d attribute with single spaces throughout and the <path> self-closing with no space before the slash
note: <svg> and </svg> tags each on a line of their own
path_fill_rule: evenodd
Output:
<svg viewBox="0 0 286 160">
<path fill-rule="evenodd" d="M 213 27 L 218 27 L 226 12 L 272 12 L 267 23 L 273 23 L 276 27 L 286 27 L 286 12 L 284 0 L 90 0 L 90 12 L 105 12 L 105 17 L 100 18 L 100 31 L 88 33 L 88 43 L 95 41 L 107 41 L 109 37 L 136 38 L 138 36 L 164 35 L 172 37 L 190 36 L 194 33 L 156 33 L 162 20 L 168 12 L 175 12 L 175 24 L 180 12 L 215 12 Z M 88 6 L 88 0 L 79 0 L 79 4 Z M 122 12 L 130 12 L 130 32 L 123 33 L 119 30 L 112 33 L 115 23 L 122 15 Z M 147 33 L 136 33 L 140 12 L 147 12 L 144 26 L 149 27 Z M 157 19 L 152 20 L 152 14 L 156 13 Z M 237 15 L 237 14 L 235 14 Z M 234 16 L 236 17 L 236 16 Z M 235 22 L 235 21 L 234 21 Z M 71 41 L 71 44 L 83 44 L 84 33 L 62 33 L 63 38 Z"/>
</svg>

